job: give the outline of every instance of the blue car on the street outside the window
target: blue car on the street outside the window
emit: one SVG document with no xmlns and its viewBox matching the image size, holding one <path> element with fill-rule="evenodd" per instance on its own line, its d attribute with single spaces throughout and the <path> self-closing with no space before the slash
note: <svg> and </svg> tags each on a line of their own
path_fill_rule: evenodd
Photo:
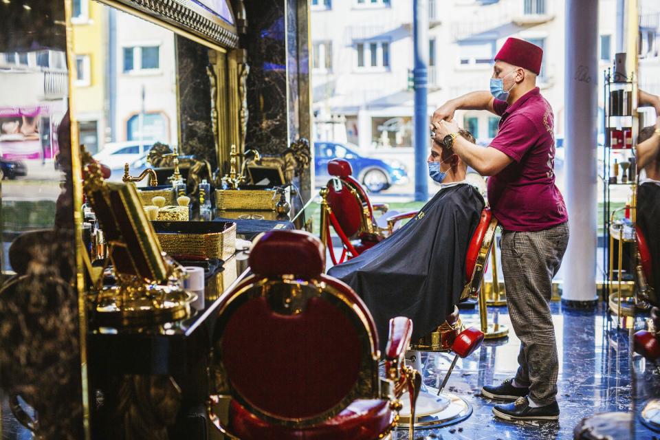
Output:
<svg viewBox="0 0 660 440">
<path fill-rule="evenodd" d="M 408 181 L 406 168 L 399 162 L 362 157 L 346 145 L 336 142 L 314 142 L 316 186 L 323 186 L 330 179 L 328 162 L 332 159 L 349 161 L 353 177 L 371 192 L 380 192 L 394 184 L 406 184 Z"/>
</svg>

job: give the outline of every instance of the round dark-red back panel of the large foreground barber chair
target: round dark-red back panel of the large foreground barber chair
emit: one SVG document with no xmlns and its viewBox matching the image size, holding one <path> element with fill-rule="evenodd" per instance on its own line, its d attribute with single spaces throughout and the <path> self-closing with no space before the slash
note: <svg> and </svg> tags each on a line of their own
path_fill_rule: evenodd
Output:
<svg viewBox="0 0 660 440">
<path fill-rule="evenodd" d="M 280 418 L 333 408 L 355 386 L 364 349 L 349 313 L 318 297 L 292 315 L 275 313 L 263 296 L 248 300 L 221 333 L 221 359 L 236 393 Z"/>
</svg>

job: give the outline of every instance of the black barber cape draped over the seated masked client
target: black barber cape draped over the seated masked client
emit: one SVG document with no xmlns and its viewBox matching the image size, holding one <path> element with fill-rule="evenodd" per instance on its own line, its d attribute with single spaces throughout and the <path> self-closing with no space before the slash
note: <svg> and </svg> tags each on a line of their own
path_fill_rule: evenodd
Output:
<svg viewBox="0 0 660 440">
<path fill-rule="evenodd" d="M 454 310 L 467 282 L 467 246 L 483 207 L 483 197 L 469 184 L 442 188 L 392 236 L 328 271 L 369 307 L 381 351 L 391 318 L 411 318 L 417 340 Z"/>
</svg>

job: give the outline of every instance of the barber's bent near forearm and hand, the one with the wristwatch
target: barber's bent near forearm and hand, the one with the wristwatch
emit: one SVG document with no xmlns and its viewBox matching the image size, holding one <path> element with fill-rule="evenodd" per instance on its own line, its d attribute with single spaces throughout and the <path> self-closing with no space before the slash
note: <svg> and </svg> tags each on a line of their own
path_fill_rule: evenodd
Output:
<svg viewBox="0 0 660 440">
<path fill-rule="evenodd" d="M 442 141 L 450 133 L 459 131 L 456 122 L 441 120 L 433 122 L 432 126 L 435 132 L 434 139 L 438 141 Z M 472 144 L 463 136 L 456 137 L 452 148 L 463 162 L 472 166 L 482 176 L 496 175 L 513 162 L 513 159 L 502 151 L 492 147 L 483 148 L 483 146 Z"/>
</svg>

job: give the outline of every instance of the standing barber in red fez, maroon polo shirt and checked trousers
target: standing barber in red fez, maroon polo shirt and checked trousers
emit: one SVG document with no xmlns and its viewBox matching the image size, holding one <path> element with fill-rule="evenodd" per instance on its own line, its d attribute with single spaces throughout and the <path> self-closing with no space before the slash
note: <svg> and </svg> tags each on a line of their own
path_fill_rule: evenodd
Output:
<svg viewBox="0 0 660 440">
<path fill-rule="evenodd" d="M 520 339 L 516 377 L 483 386 L 490 399 L 514 400 L 493 413 L 507 420 L 556 420 L 558 357 L 550 311 L 552 278 L 569 241 L 564 199 L 555 186 L 553 112 L 536 87 L 543 51 L 509 38 L 495 56 L 490 92 L 450 100 L 433 115 L 442 142 L 488 179 L 488 201 L 501 225 L 502 270 L 511 325 Z M 456 110 L 499 115 L 487 148 L 458 135 Z"/>
</svg>

